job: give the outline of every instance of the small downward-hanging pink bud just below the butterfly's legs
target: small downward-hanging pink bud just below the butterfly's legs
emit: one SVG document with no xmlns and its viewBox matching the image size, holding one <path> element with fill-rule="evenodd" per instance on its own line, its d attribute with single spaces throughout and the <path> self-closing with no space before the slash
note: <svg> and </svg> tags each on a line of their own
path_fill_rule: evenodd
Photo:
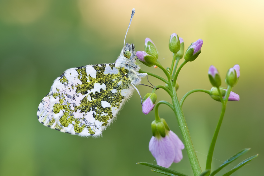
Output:
<svg viewBox="0 0 264 176">
<path fill-rule="evenodd" d="M 144 114 L 148 114 L 151 110 L 153 110 L 156 100 L 157 95 L 155 93 L 147 93 L 143 98 L 142 112 Z"/>
</svg>

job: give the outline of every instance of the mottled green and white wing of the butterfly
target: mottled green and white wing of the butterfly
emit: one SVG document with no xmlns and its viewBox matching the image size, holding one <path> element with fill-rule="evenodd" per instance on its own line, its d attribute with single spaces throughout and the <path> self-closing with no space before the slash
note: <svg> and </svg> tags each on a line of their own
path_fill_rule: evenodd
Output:
<svg viewBox="0 0 264 176">
<path fill-rule="evenodd" d="M 39 104 L 39 121 L 70 134 L 101 135 L 132 94 L 127 73 L 115 64 L 66 70 Z"/>
</svg>

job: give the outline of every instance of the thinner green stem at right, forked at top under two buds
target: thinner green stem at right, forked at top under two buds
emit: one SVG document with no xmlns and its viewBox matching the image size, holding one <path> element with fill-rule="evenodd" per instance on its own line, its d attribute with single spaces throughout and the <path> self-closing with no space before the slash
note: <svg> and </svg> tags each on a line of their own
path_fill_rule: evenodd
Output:
<svg viewBox="0 0 264 176">
<path fill-rule="evenodd" d="M 222 111 L 221 111 L 221 115 L 220 115 L 218 124 L 216 126 L 215 132 L 214 132 L 214 136 L 213 136 L 213 139 L 212 139 L 212 142 L 211 142 L 209 151 L 208 151 L 205 169 L 211 169 L 212 158 L 213 158 L 213 153 L 214 153 L 214 148 L 215 148 L 215 143 L 216 143 L 217 136 L 219 134 L 219 130 L 220 130 L 221 124 L 223 122 L 223 118 L 224 118 L 224 114 L 225 114 L 225 108 L 226 108 L 226 105 L 227 105 L 227 101 L 228 101 L 228 97 L 229 97 L 229 94 L 231 92 L 231 89 L 232 89 L 232 87 L 230 85 L 228 85 L 227 92 L 225 93 L 224 100 L 220 96 L 220 99 L 221 99 L 221 102 L 222 102 Z M 219 95 L 221 95 L 220 90 L 219 90 Z M 209 174 L 207 174 L 207 175 L 209 175 Z"/>
</svg>

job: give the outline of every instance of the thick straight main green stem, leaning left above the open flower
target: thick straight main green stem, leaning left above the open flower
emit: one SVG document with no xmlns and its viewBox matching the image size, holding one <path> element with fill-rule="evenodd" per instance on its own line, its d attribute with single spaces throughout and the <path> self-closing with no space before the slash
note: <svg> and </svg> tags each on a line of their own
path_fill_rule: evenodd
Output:
<svg viewBox="0 0 264 176">
<path fill-rule="evenodd" d="M 176 80 L 174 82 L 176 82 Z M 190 160 L 192 171 L 193 171 L 195 176 L 199 176 L 202 173 L 201 166 L 200 166 L 198 158 L 196 156 L 194 145 L 192 144 L 191 135 L 190 135 L 190 132 L 188 130 L 188 126 L 187 126 L 185 117 L 183 115 L 183 111 L 182 111 L 182 108 L 180 106 L 176 90 L 174 88 L 175 85 L 173 86 L 174 82 L 169 80 L 169 88 L 173 94 L 173 96 L 171 97 L 172 104 L 173 104 L 173 111 L 174 111 L 175 116 L 176 116 L 177 121 L 178 121 L 178 125 L 179 125 L 181 135 L 183 138 L 183 143 L 185 145 L 188 158 Z"/>
</svg>

